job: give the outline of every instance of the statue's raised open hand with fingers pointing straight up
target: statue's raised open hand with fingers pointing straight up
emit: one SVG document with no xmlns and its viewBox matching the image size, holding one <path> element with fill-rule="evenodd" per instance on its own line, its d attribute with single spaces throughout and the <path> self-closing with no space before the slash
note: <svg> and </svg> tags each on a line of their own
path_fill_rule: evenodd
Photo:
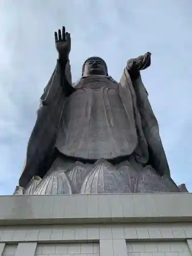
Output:
<svg viewBox="0 0 192 256">
<path fill-rule="evenodd" d="M 66 28 L 62 27 L 62 34 L 61 30 L 55 32 L 55 47 L 59 55 L 67 56 L 71 51 L 71 36 L 68 32 L 66 32 Z"/>
</svg>

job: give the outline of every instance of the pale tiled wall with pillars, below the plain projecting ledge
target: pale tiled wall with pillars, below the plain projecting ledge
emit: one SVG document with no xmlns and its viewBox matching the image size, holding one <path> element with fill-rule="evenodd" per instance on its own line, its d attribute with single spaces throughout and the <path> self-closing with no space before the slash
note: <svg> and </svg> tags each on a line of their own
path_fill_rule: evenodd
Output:
<svg viewBox="0 0 192 256">
<path fill-rule="evenodd" d="M 0 226 L 0 256 L 189 256 L 192 223 Z"/>
</svg>

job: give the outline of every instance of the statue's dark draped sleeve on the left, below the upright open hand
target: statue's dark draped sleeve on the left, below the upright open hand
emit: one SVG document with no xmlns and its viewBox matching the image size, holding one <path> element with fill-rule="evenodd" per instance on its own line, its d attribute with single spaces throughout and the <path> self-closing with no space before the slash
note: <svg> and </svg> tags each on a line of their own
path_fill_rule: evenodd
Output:
<svg viewBox="0 0 192 256">
<path fill-rule="evenodd" d="M 69 61 L 63 67 L 57 60 L 55 70 L 40 98 L 37 119 L 27 146 L 26 162 L 19 179 L 20 186 L 26 187 L 35 175 L 44 176 L 52 164 L 65 99 L 73 90 Z"/>
</svg>

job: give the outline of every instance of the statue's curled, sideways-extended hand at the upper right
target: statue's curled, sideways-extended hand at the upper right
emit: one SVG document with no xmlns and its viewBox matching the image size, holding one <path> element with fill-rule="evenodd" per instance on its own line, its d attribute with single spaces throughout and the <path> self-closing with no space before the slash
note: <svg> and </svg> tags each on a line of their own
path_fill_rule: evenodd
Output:
<svg viewBox="0 0 192 256">
<path fill-rule="evenodd" d="M 147 52 L 137 58 L 129 59 L 127 61 L 127 70 L 131 76 L 137 76 L 139 71 L 144 70 L 151 65 L 151 53 Z"/>
</svg>

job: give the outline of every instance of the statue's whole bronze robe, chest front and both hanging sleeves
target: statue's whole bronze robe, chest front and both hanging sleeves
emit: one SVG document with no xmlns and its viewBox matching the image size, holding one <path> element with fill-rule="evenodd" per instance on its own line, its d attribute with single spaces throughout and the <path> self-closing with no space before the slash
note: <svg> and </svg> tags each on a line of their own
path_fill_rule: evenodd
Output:
<svg viewBox="0 0 192 256">
<path fill-rule="evenodd" d="M 42 177 L 48 172 L 55 147 L 65 155 L 84 159 L 111 159 L 134 153 L 139 163 L 151 164 L 161 176 L 169 176 L 158 123 L 140 76 L 132 81 L 125 68 L 119 83 L 103 77 L 98 79 L 101 84 L 88 77 L 81 79 L 73 94 L 66 97 L 66 84 L 72 88 L 69 62 L 65 75 L 62 72 L 57 61 L 41 96 L 20 186 L 26 187 L 33 176 Z M 78 119 L 77 127 L 74 118 Z"/>
</svg>

